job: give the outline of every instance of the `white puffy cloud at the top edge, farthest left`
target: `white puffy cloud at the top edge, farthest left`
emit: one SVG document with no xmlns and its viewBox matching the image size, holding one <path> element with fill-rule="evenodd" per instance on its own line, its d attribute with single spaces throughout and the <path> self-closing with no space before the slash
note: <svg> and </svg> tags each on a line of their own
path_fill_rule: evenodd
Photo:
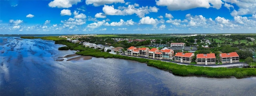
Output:
<svg viewBox="0 0 256 96">
<path fill-rule="evenodd" d="M 48 4 L 50 7 L 57 7 L 57 8 L 70 8 L 73 4 L 77 4 L 81 2 L 81 0 L 54 0 Z"/>
</svg>

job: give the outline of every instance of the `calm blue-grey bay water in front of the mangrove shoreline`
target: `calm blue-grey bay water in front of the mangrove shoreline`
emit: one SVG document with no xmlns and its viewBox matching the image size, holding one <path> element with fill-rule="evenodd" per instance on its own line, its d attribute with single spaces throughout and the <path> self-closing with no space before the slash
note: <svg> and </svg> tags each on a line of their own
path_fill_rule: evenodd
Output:
<svg viewBox="0 0 256 96">
<path fill-rule="evenodd" d="M 54 41 L 0 37 L 0 96 L 255 96 L 256 78 L 175 76 L 122 59 L 54 61 Z"/>
</svg>

